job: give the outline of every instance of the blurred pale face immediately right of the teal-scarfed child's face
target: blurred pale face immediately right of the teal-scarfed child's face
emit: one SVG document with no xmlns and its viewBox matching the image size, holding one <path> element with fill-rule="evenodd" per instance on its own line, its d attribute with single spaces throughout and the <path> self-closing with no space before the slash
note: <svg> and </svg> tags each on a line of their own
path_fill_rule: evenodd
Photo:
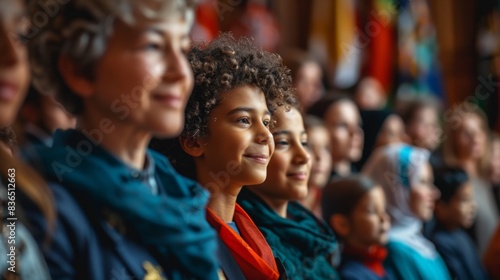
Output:
<svg viewBox="0 0 500 280">
<path fill-rule="evenodd" d="M 322 188 L 328 183 L 332 169 L 328 130 L 322 126 L 313 127 L 307 131 L 307 140 L 311 154 L 309 185 Z"/>
</svg>

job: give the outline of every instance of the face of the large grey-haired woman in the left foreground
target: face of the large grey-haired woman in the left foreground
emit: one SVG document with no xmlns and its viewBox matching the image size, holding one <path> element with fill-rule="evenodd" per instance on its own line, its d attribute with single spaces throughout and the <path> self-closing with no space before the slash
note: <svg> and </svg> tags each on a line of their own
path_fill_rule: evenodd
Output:
<svg viewBox="0 0 500 280">
<path fill-rule="evenodd" d="M 183 20 L 118 21 L 98 61 L 82 118 L 111 118 L 155 135 L 175 136 L 193 85 L 185 52 L 190 46 Z M 81 94 L 81 93 L 80 93 Z"/>
</svg>

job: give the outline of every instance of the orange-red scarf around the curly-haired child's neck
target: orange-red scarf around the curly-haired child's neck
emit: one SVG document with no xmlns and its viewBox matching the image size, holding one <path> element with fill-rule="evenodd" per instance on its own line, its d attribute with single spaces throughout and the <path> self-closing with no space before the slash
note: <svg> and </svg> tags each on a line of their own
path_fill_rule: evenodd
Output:
<svg viewBox="0 0 500 280">
<path fill-rule="evenodd" d="M 245 278 L 277 280 L 279 272 L 271 247 L 243 208 L 236 204 L 234 210 L 233 221 L 241 236 L 209 208 L 207 220 L 231 251 Z"/>
</svg>

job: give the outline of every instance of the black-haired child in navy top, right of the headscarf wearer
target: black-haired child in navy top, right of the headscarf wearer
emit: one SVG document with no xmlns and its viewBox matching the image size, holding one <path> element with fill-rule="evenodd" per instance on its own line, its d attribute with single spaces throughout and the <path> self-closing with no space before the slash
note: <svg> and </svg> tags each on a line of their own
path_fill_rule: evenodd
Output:
<svg viewBox="0 0 500 280">
<path fill-rule="evenodd" d="M 434 171 L 434 184 L 441 192 L 436 203 L 436 225 L 429 239 L 443 257 L 453 279 L 487 279 L 477 248 L 462 228 L 469 228 L 476 215 L 476 202 L 463 169 L 443 167 Z"/>
</svg>

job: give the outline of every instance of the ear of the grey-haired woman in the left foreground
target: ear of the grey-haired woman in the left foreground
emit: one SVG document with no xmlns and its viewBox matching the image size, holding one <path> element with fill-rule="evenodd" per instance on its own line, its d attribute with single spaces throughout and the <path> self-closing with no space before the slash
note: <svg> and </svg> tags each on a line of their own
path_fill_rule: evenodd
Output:
<svg viewBox="0 0 500 280">
<path fill-rule="evenodd" d="M 85 77 L 67 56 L 60 56 L 58 60 L 59 73 L 64 82 L 76 95 L 89 97 L 94 93 L 94 87 L 89 78 Z"/>
</svg>

